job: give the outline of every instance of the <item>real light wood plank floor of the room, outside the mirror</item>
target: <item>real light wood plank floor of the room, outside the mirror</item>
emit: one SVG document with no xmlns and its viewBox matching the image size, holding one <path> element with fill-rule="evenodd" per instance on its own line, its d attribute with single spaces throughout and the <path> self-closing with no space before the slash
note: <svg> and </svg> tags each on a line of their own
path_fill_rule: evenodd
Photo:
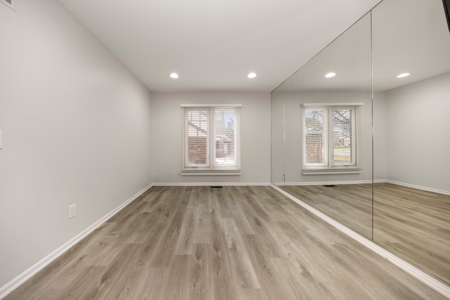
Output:
<svg viewBox="0 0 450 300">
<path fill-rule="evenodd" d="M 153 187 L 6 299 L 444 299 L 270 187 Z"/>
</svg>

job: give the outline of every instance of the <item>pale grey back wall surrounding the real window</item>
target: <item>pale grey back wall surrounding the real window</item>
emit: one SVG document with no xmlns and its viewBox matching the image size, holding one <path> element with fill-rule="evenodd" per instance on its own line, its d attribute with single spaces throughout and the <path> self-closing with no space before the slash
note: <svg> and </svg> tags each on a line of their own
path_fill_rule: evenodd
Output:
<svg viewBox="0 0 450 300">
<path fill-rule="evenodd" d="M 241 175 L 181 176 L 181 104 L 242 104 Z M 153 182 L 270 183 L 270 93 L 153 93 Z"/>
</svg>

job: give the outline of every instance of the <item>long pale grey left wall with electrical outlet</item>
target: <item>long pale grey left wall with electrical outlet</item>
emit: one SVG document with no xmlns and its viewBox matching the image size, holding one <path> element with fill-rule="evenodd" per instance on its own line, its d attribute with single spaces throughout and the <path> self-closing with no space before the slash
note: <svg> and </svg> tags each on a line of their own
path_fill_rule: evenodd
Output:
<svg viewBox="0 0 450 300">
<path fill-rule="evenodd" d="M 1 288 L 152 178 L 150 92 L 58 1 L 0 4 L 0 41 Z"/>
</svg>

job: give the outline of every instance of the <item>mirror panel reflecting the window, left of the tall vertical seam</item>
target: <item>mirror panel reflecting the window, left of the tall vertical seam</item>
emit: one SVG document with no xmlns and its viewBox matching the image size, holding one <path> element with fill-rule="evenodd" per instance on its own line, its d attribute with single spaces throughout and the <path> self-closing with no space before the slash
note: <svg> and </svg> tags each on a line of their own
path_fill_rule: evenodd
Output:
<svg viewBox="0 0 450 300">
<path fill-rule="evenodd" d="M 336 76 L 326 78 L 328 72 L 335 72 Z M 350 120 L 352 117 L 349 117 L 352 114 L 339 109 L 333 112 L 327 110 L 327 121 L 322 117 L 314 119 L 316 123 L 321 122 L 320 129 L 311 123 L 312 117 L 306 116 L 309 112 L 314 114 L 315 110 L 305 110 L 302 124 L 301 105 L 323 103 L 328 103 L 330 107 L 335 107 L 338 103 L 361 104 L 361 123 L 353 124 Z M 284 114 L 281 113 L 282 107 Z M 361 18 L 273 91 L 272 108 L 272 145 L 276 149 L 276 152 L 272 152 L 273 181 L 278 185 L 282 183 L 285 190 L 312 207 L 371 238 L 371 16 L 368 14 Z M 348 112 L 348 115 L 344 112 Z M 277 116 L 276 119 L 274 115 Z M 284 132 L 280 130 L 283 115 Z M 324 129 L 327 126 L 328 129 Z M 355 126 L 361 131 L 360 136 L 349 133 L 355 130 Z M 312 133 L 302 133 L 304 128 L 312 128 Z M 318 130 L 321 131 L 319 138 L 313 132 Z M 312 143 L 308 141 L 311 136 L 318 140 L 314 140 L 314 147 L 319 147 L 320 150 L 311 150 Z M 352 160 L 349 158 L 356 156 L 355 148 L 359 152 L 359 169 L 343 167 L 345 160 Z M 316 155 L 323 161 L 326 160 L 323 157 L 327 157 L 328 169 L 307 169 L 308 162 L 304 164 L 302 157 L 309 155 Z M 283 168 L 281 164 L 274 166 L 274 162 L 281 161 L 284 162 Z M 339 166 L 331 167 L 331 162 Z M 285 181 L 277 181 L 282 178 L 282 174 Z"/>
</svg>

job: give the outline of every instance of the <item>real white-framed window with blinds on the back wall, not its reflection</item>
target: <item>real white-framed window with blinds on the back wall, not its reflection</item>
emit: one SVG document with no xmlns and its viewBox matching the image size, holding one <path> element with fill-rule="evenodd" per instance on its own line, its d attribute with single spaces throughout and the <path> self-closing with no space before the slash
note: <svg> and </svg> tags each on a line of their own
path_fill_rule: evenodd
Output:
<svg viewBox="0 0 450 300">
<path fill-rule="evenodd" d="M 238 174 L 240 105 L 182 105 L 181 174 Z"/>
</svg>

